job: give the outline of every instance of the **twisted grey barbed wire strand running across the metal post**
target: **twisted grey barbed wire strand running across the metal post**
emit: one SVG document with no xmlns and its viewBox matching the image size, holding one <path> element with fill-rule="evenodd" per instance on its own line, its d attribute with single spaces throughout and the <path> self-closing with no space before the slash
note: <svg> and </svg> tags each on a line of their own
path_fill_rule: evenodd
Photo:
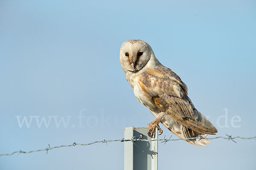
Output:
<svg viewBox="0 0 256 170">
<path fill-rule="evenodd" d="M 226 134 L 227 135 L 227 134 Z M 138 137 L 138 138 L 136 138 Z M 193 139 L 209 139 L 209 140 L 212 140 L 212 139 L 227 139 L 227 140 L 232 140 L 233 142 L 237 143 L 236 141 L 234 141 L 234 139 L 256 139 L 256 136 L 254 137 L 248 137 L 248 138 L 245 138 L 245 137 L 240 137 L 240 136 L 236 136 L 236 137 L 232 137 L 231 135 L 227 135 L 227 137 L 223 137 L 223 136 L 217 136 L 217 137 L 213 137 L 213 138 L 208 138 L 207 136 L 198 136 L 198 137 L 193 137 L 193 138 L 178 138 L 178 139 L 171 139 L 172 136 L 169 138 L 169 139 L 166 139 L 165 136 L 163 139 L 151 139 L 151 140 L 147 140 L 147 139 L 140 139 L 142 138 L 142 135 L 140 136 L 133 136 L 131 139 L 116 139 L 116 140 L 103 140 L 103 141 L 95 141 L 95 142 L 91 142 L 91 143 L 87 143 L 87 144 L 81 144 L 81 143 L 76 143 L 74 142 L 73 144 L 69 144 L 69 145 L 61 145 L 61 146 L 55 146 L 55 147 L 50 147 L 50 144 L 48 144 L 49 147 L 45 148 L 45 149 L 39 149 L 39 150 L 31 150 L 31 151 L 22 151 L 22 150 L 19 150 L 19 151 L 15 151 L 13 153 L 6 153 L 6 154 L 0 154 L 0 156 L 10 156 L 10 155 L 13 155 L 15 153 L 17 153 L 16 155 L 19 155 L 20 153 L 33 153 L 33 152 L 40 152 L 40 151 L 46 151 L 46 153 L 48 153 L 48 150 L 52 150 L 52 149 L 55 149 L 55 148 L 60 148 L 60 147 L 72 147 L 72 146 L 76 146 L 76 145 L 81 145 L 81 146 L 87 146 L 87 145 L 91 145 L 91 144 L 96 144 L 96 143 L 106 143 L 108 145 L 108 142 L 128 142 L 128 141 L 131 141 L 131 142 L 136 142 L 136 141 L 144 141 L 144 142 L 151 142 L 151 141 L 161 141 L 161 143 L 164 142 L 164 144 L 166 144 L 166 142 L 169 142 L 169 141 L 179 141 L 179 140 L 193 140 Z"/>
</svg>

